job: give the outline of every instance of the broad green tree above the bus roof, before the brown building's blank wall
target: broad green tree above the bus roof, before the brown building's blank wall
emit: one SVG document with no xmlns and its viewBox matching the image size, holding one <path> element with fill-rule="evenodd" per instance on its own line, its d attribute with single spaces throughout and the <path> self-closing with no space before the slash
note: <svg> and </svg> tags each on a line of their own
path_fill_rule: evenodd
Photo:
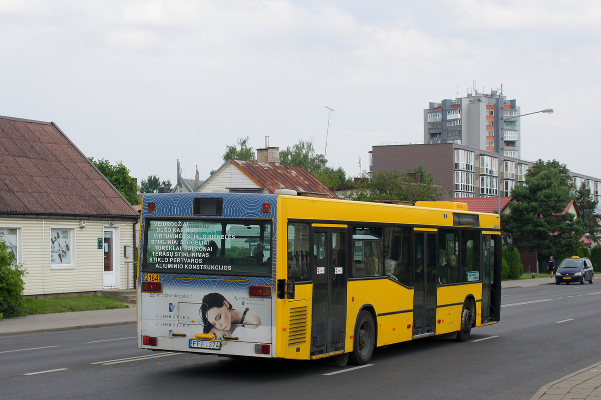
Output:
<svg viewBox="0 0 601 400">
<path fill-rule="evenodd" d="M 418 167 L 407 173 L 391 170 L 374 172 L 369 178 L 364 177 L 355 182 L 355 191 L 343 195 L 349 200 L 378 201 L 436 201 L 442 199 L 441 187 L 434 184 L 430 173 L 424 172 L 424 178 L 416 183 L 415 175 L 423 170 Z"/>
</svg>

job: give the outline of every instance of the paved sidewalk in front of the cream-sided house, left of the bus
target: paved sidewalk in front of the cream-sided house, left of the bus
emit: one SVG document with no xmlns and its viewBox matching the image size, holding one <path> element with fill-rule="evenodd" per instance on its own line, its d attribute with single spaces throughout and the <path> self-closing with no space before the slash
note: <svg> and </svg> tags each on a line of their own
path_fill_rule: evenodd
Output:
<svg viewBox="0 0 601 400">
<path fill-rule="evenodd" d="M 0 321 L 0 336 L 135 323 L 135 306 L 130 308 L 100 309 L 95 311 L 36 314 L 28 315 L 27 317 L 7 318 Z"/>
</svg>

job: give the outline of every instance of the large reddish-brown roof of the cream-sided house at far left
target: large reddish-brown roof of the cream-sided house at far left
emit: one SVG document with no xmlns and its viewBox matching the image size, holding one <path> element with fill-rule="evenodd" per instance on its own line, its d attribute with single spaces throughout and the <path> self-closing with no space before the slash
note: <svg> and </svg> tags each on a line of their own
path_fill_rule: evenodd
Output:
<svg viewBox="0 0 601 400">
<path fill-rule="evenodd" d="M 0 212 L 138 215 L 53 122 L 4 116 Z"/>
</svg>

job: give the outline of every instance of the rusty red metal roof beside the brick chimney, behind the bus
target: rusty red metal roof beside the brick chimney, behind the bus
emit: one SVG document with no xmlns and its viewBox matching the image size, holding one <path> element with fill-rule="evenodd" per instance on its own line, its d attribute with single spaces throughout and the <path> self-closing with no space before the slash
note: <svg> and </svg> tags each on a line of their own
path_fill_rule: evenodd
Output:
<svg viewBox="0 0 601 400">
<path fill-rule="evenodd" d="M 317 193 L 323 194 L 329 199 L 339 199 L 334 192 L 302 167 L 239 160 L 231 160 L 231 163 L 242 170 L 257 185 L 266 188 L 269 193 L 278 189 L 291 189 L 299 193 Z"/>
</svg>

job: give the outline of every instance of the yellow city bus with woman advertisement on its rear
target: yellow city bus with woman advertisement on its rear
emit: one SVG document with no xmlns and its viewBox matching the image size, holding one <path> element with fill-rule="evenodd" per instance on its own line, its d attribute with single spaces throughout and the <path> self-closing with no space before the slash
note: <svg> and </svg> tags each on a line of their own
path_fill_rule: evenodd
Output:
<svg viewBox="0 0 601 400">
<path fill-rule="evenodd" d="M 148 350 L 365 364 L 500 320 L 499 218 L 465 203 L 150 194 L 140 226 Z"/>
</svg>

